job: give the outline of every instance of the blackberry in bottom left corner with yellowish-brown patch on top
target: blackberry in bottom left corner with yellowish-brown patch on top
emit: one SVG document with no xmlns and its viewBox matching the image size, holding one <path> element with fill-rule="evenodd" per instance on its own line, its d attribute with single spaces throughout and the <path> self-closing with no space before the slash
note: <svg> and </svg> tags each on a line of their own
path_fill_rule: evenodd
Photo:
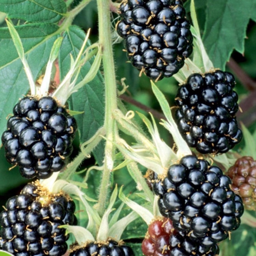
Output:
<svg viewBox="0 0 256 256">
<path fill-rule="evenodd" d="M 39 182 L 27 184 L 8 199 L 0 214 L 0 249 L 14 255 L 61 256 L 67 251 L 65 229 L 75 225 L 75 204 L 67 195 L 49 194 Z"/>
</svg>

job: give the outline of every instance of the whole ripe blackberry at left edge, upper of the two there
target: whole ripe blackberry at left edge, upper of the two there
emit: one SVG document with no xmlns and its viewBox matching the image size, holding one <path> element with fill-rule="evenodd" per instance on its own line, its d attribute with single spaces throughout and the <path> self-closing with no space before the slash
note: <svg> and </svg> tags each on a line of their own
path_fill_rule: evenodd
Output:
<svg viewBox="0 0 256 256">
<path fill-rule="evenodd" d="M 5 156 L 27 179 L 60 171 L 72 153 L 77 124 L 52 97 L 27 96 L 13 108 L 2 134 Z"/>
</svg>

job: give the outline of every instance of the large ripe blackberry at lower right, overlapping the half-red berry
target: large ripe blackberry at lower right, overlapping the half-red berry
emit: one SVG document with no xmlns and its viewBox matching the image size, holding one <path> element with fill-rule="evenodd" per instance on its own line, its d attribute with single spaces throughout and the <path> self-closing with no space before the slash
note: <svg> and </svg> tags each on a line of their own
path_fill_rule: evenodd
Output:
<svg viewBox="0 0 256 256">
<path fill-rule="evenodd" d="M 242 199 L 230 189 L 229 177 L 206 160 L 185 156 L 156 183 L 161 214 L 200 245 L 214 246 L 239 227 Z"/>
</svg>

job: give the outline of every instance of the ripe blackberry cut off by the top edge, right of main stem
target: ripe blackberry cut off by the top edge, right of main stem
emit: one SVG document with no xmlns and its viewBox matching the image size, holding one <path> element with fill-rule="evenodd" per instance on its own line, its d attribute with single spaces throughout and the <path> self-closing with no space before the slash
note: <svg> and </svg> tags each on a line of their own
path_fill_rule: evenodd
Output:
<svg viewBox="0 0 256 256">
<path fill-rule="evenodd" d="M 193 37 L 182 1 L 123 0 L 117 33 L 131 64 L 154 80 L 170 77 L 192 53 Z"/>
</svg>

